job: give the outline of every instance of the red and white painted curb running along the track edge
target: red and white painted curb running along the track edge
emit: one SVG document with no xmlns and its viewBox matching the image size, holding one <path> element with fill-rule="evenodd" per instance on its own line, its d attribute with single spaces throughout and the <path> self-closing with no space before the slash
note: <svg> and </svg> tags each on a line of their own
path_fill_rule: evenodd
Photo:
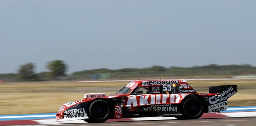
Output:
<svg viewBox="0 0 256 126">
<path fill-rule="evenodd" d="M 235 117 L 256 117 L 256 111 L 249 112 L 222 112 L 222 113 L 205 113 L 200 119 L 206 118 L 235 118 Z M 174 117 L 143 117 L 143 118 L 125 118 L 125 119 L 109 119 L 106 122 L 121 121 L 154 121 L 154 120 L 172 120 Z M 5 125 L 38 125 L 38 124 L 65 124 L 65 123 L 86 123 L 83 120 L 55 122 L 56 119 L 38 119 L 38 120 L 14 120 L 0 121 L 0 126 Z"/>
</svg>

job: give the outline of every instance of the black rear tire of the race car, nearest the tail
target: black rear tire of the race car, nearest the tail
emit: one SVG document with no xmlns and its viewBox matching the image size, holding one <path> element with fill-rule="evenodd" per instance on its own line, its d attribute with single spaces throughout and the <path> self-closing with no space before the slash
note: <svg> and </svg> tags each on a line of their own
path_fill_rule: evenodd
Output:
<svg viewBox="0 0 256 126">
<path fill-rule="evenodd" d="M 198 119 L 203 115 L 203 103 L 200 99 L 192 97 L 183 104 L 182 116 L 187 119 Z"/>
</svg>

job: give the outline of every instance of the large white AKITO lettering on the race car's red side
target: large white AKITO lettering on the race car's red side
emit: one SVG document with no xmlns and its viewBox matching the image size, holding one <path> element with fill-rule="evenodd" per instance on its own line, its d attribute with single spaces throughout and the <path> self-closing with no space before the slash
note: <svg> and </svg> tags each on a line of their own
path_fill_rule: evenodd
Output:
<svg viewBox="0 0 256 126">
<path fill-rule="evenodd" d="M 139 97 L 138 97 L 139 96 Z M 179 94 L 163 94 L 163 95 L 130 95 L 128 96 L 127 105 L 139 104 L 162 104 L 162 103 L 179 103 Z"/>
</svg>

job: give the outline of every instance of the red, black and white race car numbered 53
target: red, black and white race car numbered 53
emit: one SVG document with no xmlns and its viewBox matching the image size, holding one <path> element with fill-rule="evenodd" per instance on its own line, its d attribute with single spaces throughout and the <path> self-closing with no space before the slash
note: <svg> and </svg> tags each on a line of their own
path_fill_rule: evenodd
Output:
<svg viewBox="0 0 256 126">
<path fill-rule="evenodd" d="M 235 93 L 237 85 L 209 87 L 209 93 L 197 93 L 187 80 L 135 80 L 114 96 L 89 93 L 83 100 L 63 104 L 56 120 L 105 122 L 159 116 L 198 119 L 203 113 L 226 110 L 227 99 Z"/>
</svg>

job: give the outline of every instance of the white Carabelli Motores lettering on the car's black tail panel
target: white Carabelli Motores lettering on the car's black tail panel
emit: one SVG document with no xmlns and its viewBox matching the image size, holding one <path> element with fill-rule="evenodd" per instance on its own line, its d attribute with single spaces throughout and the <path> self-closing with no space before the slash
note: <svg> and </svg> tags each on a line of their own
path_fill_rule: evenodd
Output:
<svg viewBox="0 0 256 126">
<path fill-rule="evenodd" d="M 233 87 L 229 87 L 226 91 L 222 91 L 219 95 L 214 95 L 209 97 L 209 103 L 210 104 L 216 104 L 223 101 L 226 101 L 229 97 L 234 95 L 236 91 L 233 91 Z M 233 91 L 233 92 L 232 92 Z"/>
</svg>

